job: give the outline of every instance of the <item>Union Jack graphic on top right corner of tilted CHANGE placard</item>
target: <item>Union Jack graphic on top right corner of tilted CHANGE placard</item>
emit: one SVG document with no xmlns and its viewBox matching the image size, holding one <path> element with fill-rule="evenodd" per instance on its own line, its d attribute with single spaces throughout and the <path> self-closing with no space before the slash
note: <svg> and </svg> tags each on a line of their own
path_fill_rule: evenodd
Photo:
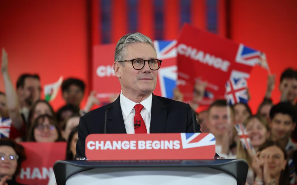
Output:
<svg viewBox="0 0 297 185">
<path fill-rule="evenodd" d="M 240 64 L 255 66 L 256 64 L 260 64 L 261 55 L 262 53 L 260 51 L 246 47 L 243 44 L 239 44 L 235 61 Z"/>
</svg>

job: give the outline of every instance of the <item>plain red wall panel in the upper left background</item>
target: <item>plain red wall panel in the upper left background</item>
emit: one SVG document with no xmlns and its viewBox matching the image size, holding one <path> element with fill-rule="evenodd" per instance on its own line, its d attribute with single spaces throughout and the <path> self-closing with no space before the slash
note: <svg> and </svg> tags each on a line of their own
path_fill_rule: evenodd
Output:
<svg viewBox="0 0 297 185">
<path fill-rule="evenodd" d="M 84 0 L 0 1 L 0 47 L 8 52 L 14 85 L 29 72 L 41 76 L 42 86 L 63 75 L 84 80 L 88 89 L 86 16 Z M 51 104 L 55 109 L 64 104 L 61 92 Z"/>
</svg>

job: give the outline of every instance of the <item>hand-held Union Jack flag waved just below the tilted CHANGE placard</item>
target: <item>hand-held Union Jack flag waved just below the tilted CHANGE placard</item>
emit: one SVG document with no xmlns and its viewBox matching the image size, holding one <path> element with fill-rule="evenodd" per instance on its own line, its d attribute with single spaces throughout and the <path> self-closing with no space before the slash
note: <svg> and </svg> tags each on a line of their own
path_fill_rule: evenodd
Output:
<svg viewBox="0 0 297 185">
<path fill-rule="evenodd" d="M 235 103 L 248 103 L 247 80 L 245 78 L 231 77 L 226 83 L 225 98 L 229 105 Z"/>
</svg>

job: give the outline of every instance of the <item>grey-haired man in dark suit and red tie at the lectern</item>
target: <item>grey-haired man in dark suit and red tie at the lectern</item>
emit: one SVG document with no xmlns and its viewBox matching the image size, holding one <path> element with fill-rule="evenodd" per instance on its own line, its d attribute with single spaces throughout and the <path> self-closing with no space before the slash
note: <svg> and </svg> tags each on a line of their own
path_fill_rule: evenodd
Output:
<svg viewBox="0 0 297 185">
<path fill-rule="evenodd" d="M 194 132 L 193 122 L 195 132 L 200 132 L 196 115 L 188 104 L 153 94 L 161 63 L 149 37 L 130 33 L 119 39 L 113 69 L 121 84 L 121 93 L 113 103 L 80 118 L 76 158 L 85 157 L 88 134 L 105 133 L 105 115 L 106 133 Z"/>
</svg>

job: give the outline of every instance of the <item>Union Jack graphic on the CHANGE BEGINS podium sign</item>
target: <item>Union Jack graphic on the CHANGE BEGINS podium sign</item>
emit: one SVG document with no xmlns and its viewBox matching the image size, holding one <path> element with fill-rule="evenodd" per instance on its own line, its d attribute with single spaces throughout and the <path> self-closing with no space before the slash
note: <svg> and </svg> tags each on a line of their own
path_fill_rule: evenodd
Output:
<svg viewBox="0 0 297 185">
<path fill-rule="evenodd" d="M 210 146 L 216 144 L 216 139 L 213 134 L 201 133 L 181 133 L 183 149 L 185 148 L 195 148 L 201 146 Z"/>
</svg>

